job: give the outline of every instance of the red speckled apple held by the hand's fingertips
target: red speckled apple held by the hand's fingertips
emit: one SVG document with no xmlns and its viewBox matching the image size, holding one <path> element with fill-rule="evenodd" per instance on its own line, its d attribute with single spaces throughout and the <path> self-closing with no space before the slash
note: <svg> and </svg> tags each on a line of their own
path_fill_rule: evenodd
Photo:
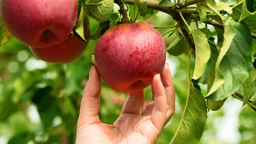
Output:
<svg viewBox="0 0 256 144">
<path fill-rule="evenodd" d="M 166 61 L 161 34 L 144 23 L 120 24 L 98 40 L 94 61 L 102 80 L 113 90 L 132 93 L 152 84 Z"/>
</svg>

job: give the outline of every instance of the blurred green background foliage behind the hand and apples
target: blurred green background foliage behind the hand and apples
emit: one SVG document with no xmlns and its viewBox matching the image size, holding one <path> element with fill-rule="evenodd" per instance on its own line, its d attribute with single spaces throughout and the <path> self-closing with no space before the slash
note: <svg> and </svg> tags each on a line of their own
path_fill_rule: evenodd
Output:
<svg viewBox="0 0 256 144">
<path fill-rule="evenodd" d="M 132 7 L 130 7 L 132 12 Z M 154 13 L 154 11 L 152 11 Z M 139 16 L 141 18 L 141 16 Z M 164 13 L 149 19 L 156 26 L 175 25 L 175 21 Z M 96 32 L 98 22 L 90 18 L 91 34 Z M 113 24 L 111 24 L 113 26 Z M 192 25 L 191 25 L 192 26 Z M 201 26 L 201 31 L 205 29 Z M 212 31 L 210 31 L 212 30 Z M 214 28 L 208 36 L 216 36 Z M 166 29 L 160 29 L 164 33 Z M 176 34 L 164 36 L 166 46 Z M 94 65 L 93 54 L 96 40 L 90 40 L 83 55 L 69 64 L 52 64 L 38 60 L 27 46 L 12 37 L 0 47 L 0 143 L 1 144 L 74 144 L 76 123 L 83 89 L 88 80 L 90 67 Z M 183 114 L 187 98 L 187 54 L 168 55 L 176 90 L 176 111 L 164 127 L 158 144 L 168 144 L 172 139 Z M 195 56 L 192 55 L 192 66 Z M 193 72 L 193 68 L 192 68 Z M 206 86 L 200 85 L 206 93 Z M 145 89 L 146 100 L 150 100 L 150 86 Z M 120 115 L 126 94 L 114 92 L 102 81 L 100 95 L 100 119 L 113 124 Z M 234 101 L 228 98 L 231 105 Z M 237 101 L 237 100 L 236 100 Z M 240 104 L 240 103 L 239 103 Z M 241 107 L 240 105 L 235 107 Z M 256 138 L 256 115 L 248 106 L 240 108 L 240 139 L 234 144 L 253 144 Z M 210 112 L 201 144 L 218 144 L 216 120 L 228 109 Z M 221 124 L 221 121 L 219 121 Z M 224 144 L 224 143 L 222 143 Z M 233 144 L 233 143 L 226 143 Z"/>
</svg>

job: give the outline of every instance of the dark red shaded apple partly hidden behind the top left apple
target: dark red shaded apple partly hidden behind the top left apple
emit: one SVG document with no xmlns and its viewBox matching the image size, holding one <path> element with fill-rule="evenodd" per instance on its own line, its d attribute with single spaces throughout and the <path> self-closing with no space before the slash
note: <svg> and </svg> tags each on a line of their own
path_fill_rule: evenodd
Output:
<svg viewBox="0 0 256 144">
<path fill-rule="evenodd" d="M 48 46 L 45 48 L 30 47 L 30 50 L 37 58 L 39 58 L 40 60 L 44 60 L 45 62 L 58 64 L 70 63 L 78 59 L 82 55 L 89 43 L 89 35 L 90 21 L 88 19 L 88 16 L 85 14 L 84 38 L 86 39 L 86 42 L 77 38 L 75 34 L 70 34 L 70 37 L 68 37 L 64 42 L 60 44 Z"/>
</svg>

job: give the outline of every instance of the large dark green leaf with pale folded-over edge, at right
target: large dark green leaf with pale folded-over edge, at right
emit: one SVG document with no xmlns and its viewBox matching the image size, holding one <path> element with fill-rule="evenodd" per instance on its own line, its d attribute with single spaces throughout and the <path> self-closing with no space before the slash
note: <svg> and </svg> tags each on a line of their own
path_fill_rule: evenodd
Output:
<svg viewBox="0 0 256 144">
<path fill-rule="evenodd" d="M 224 100 L 238 90 L 252 68 L 252 36 L 249 28 L 230 18 L 225 18 L 224 22 L 224 42 L 216 62 L 215 79 L 206 95 L 215 101 Z"/>
</svg>

